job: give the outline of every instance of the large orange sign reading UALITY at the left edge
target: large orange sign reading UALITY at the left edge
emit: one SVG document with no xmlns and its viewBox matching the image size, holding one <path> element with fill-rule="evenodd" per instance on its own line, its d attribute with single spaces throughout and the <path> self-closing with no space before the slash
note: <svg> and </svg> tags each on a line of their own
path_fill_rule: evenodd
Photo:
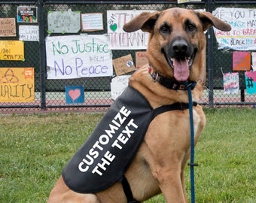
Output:
<svg viewBox="0 0 256 203">
<path fill-rule="evenodd" d="M 0 102 L 33 102 L 34 68 L 0 68 Z"/>
</svg>

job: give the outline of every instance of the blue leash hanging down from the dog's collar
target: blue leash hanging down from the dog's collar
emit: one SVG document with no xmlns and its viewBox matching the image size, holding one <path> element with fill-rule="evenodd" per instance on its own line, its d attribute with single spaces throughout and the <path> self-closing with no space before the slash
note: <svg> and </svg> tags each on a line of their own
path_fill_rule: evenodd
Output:
<svg viewBox="0 0 256 203">
<path fill-rule="evenodd" d="M 191 192 L 191 203 L 195 203 L 195 182 L 194 182 L 194 166 L 197 166 L 194 163 L 194 122 L 193 122 L 193 101 L 192 101 L 192 92 L 191 89 L 194 89 L 197 83 L 187 84 L 187 94 L 188 94 L 188 108 L 190 114 L 190 192 Z"/>
</svg>

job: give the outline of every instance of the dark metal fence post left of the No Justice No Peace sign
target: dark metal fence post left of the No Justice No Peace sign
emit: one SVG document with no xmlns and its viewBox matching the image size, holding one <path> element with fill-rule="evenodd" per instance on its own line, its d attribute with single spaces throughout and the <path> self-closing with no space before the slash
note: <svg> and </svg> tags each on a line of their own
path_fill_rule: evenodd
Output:
<svg viewBox="0 0 256 203">
<path fill-rule="evenodd" d="M 44 5 L 43 0 L 38 0 L 38 26 L 39 26 L 39 61 L 40 61 L 40 90 L 41 90 L 41 110 L 46 109 L 46 81 L 45 81 L 45 43 L 44 43 Z"/>
</svg>

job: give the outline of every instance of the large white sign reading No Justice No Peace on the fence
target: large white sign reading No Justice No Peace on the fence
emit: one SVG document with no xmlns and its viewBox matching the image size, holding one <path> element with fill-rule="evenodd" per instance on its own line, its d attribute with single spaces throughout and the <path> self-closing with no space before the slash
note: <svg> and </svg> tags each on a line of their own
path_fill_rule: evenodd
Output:
<svg viewBox="0 0 256 203">
<path fill-rule="evenodd" d="M 113 75 L 107 35 L 47 37 L 47 79 Z"/>
</svg>

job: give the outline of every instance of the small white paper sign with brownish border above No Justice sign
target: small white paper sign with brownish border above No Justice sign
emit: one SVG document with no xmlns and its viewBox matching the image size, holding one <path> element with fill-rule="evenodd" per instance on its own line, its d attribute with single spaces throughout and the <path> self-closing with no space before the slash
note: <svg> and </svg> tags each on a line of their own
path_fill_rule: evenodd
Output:
<svg viewBox="0 0 256 203">
<path fill-rule="evenodd" d="M 103 20 L 101 13 L 81 14 L 82 31 L 92 32 L 103 30 Z"/>
</svg>

